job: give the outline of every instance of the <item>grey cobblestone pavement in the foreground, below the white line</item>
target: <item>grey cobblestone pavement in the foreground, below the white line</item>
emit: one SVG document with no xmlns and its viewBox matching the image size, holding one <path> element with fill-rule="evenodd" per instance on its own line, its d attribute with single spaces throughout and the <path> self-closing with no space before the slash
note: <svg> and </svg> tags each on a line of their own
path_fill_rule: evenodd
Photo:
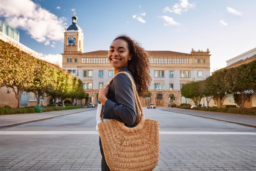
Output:
<svg viewBox="0 0 256 171">
<path fill-rule="evenodd" d="M 246 142 L 246 143 L 244 143 Z M 98 135 L 0 135 L 0 171 L 100 171 Z M 160 135 L 154 171 L 256 171 L 256 135 Z"/>
</svg>

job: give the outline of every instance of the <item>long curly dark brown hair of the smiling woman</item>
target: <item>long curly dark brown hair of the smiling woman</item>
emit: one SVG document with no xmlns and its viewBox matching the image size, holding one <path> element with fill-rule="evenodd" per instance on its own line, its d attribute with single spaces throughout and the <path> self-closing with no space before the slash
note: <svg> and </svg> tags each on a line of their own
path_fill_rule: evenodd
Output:
<svg viewBox="0 0 256 171">
<path fill-rule="evenodd" d="M 141 47 L 141 43 L 133 40 L 126 34 L 121 34 L 115 38 L 124 40 L 129 48 L 129 53 L 133 54 L 132 59 L 128 62 L 128 69 L 132 73 L 135 83 L 138 85 L 138 95 L 143 96 L 149 92 L 149 86 L 152 78 L 150 73 L 149 55 Z M 115 41 L 113 40 L 113 42 Z"/>
</svg>

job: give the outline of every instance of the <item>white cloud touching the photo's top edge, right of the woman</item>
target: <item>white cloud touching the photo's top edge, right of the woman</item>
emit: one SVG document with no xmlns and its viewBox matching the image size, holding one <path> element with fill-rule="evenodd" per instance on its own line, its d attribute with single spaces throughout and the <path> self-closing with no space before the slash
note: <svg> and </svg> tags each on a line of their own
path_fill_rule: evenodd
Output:
<svg viewBox="0 0 256 171">
<path fill-rule="evenodd" d="M 194 9 L 195 4 L 188 3 L 188 0 L 180 0 L 180 3 L 176 3 L 175 5 L 172 6 L 172 10 L 170 7 L 165 7 L 163 10 L 164 12 L 174 12 L 176 14 L 181 14 L 183 11 L 188 11 L 188 9 Z"/>
</svg>

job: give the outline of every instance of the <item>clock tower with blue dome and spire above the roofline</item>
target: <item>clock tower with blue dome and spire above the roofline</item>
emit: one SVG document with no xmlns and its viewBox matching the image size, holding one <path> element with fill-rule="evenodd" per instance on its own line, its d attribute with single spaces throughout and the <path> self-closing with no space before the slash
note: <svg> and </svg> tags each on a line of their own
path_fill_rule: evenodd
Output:
<svg viewBox="0 0 256 171">
<path fill-rule="evenodd" d="M 72 17 L 72 24 L 64 32 L 64 53 L 83 53 L 84 32 L 76 24 L 77 17 Z"/>
</svg>

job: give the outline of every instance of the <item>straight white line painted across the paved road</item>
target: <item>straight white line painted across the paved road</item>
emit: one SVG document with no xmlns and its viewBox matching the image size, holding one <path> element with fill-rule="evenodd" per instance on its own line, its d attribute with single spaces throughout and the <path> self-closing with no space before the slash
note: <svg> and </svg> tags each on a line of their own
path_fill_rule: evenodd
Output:
<svg viewBox="0 0 256 171">
<path fill-rule="evenodd" d="M 0 131 L 0 135 L 69 135 L 98 134 L 96 131 Z M 213 131 L 159 131 L 167 135 L 256 135 L 256 132 L 213 132 Z"/>
</svg>

